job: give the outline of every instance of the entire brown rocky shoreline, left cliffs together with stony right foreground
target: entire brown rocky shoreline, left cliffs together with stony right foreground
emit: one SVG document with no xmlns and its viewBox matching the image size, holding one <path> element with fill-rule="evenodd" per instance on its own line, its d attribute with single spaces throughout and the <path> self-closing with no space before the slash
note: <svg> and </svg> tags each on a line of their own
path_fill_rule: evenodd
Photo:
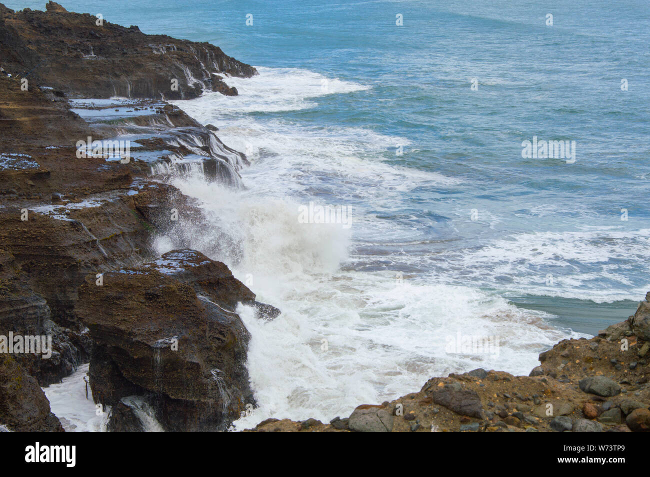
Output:
<svg viewBox="0 0 650 477">
<path fill-rule="evenodd" d="M 188 231 L 207 222 L 165 180 L 200 170 L 242 187 L 248 160 L 166 99 L 237 95 L 227 77 L 257 71 L 207 43 L 46 10 L 0 4 L 0 336 L 47 335 L 53 348 L 0 353 L 0 430 L 63 431 L 42 387 L 85 363 L 108 430 L 146 430 L 142 406 L 163 430 L 226 430 L 255 406 L 235 308 L 281 312 L 191 250 Z M 124 137 L 127 155 L 79 156 L 86 138 Z M 174 250 L 159 256 L 161 236 Z M 644 301 L 593 339 L 556 344 L 530 376 L 450 374 L 330 423 L 269 419 L 251 431 L 648 431 L 649 346 Z"/>
</svg>

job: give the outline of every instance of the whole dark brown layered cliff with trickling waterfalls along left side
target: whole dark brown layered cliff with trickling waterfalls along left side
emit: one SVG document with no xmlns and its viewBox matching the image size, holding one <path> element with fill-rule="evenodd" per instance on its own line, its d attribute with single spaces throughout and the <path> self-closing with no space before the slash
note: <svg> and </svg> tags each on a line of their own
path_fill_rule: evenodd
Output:
<svg viewBox="0 0 650 477">
<path fill-rule="evenodd" d="M 0 354 L 0 424 L 62 430 L 40 386 L 90 361 L 110 429 L 138 430 L 138 402 L 165 430 L 224 430 L 254 404 L 235 306 L 261 319 L 279 310 L 184 249 L 203 215 L 164 179 L 200 172 L 240 187 L 248 161 L 161 99 L 237 94 L 221 78 L 255 69 L 53 2 L 0 5 L 0 61 L 0 336 L 52 337 L 51 357 Z M 130 153 L 79 154 L 80 140 L 125 135 Z M 161 235 L 182 250 L 158 257 Z"/>
</svg>

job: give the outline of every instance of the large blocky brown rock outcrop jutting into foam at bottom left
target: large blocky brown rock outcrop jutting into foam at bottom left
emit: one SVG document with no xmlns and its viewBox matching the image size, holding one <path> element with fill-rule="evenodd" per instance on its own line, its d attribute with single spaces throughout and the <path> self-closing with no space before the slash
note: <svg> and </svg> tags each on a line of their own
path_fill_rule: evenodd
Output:
<svg viewBox="0 0 650 477">
<path fill-rule="evenodd" d="M 205 267 L 212 263 L 203 259 Z M 178 272 L 187 283 L 156 269 L 164 266 L 163 259 L 124 268 L 104 274 L 101 286 L 89 277 L 80 287 L 77 315 L 95 343 L 94 399 L 115 406 L 125 396 L 144 396 L 165 430 L 225 430 L 246 404 L 254 404 L 245 366 L 250 335 L 239 316 L 223 306 L 235 299 L 228 288 L 234 279 L 225 276 L 226 267 L 215 282 L 213 298 L 219 304 L 188 285 L 194 266 Z"/>
</svg>

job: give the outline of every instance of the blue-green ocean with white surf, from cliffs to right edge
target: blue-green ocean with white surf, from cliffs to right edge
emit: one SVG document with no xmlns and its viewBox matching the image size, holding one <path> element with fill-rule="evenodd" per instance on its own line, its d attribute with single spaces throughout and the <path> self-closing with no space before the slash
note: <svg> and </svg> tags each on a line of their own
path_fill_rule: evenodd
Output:
<svg viewBox="0 0 650 477">
<path fill-rule="evenodd" d="M 252 162 L 241 190 L 174 179 L 214 224 L 194 248 L 283 312 L 240 308 L 259 408 L 237 429 L 347 416 L 450 372 L 528 374 L 650 290 L 645 0 L 62 5 L 260 73 L 174 101 Z M 299 219 L 326 205 L 348 222 Z"/>
</svg>

